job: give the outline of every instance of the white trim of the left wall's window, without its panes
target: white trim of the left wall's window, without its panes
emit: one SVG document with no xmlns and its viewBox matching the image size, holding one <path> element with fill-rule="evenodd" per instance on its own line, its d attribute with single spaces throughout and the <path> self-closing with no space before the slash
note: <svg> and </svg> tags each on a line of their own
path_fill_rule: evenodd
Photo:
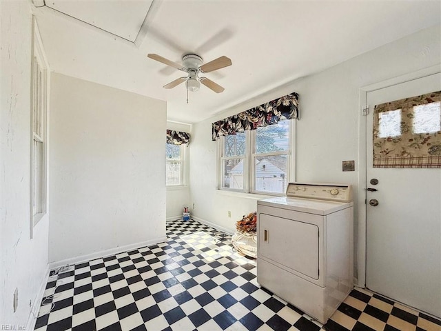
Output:
<svg viewBox="0 0 441 331">
<path fill-rule="evenodd" d="M 34 132 L 34 59 L 38 61 L 42 69 L 41 92 L 42 113 L 41 132 Z M 43 41 L 37 21 L 32 17 L 32 56 L 31 56 L 31 89 L 30 89 L 30 237 L 33 237 L 34 226 L 45 216 L 48 211 L 48 116 L 49 116 L 49 92 L 50 92 L 50 69 L 48 60 L 43 49 Z M 40 188 L 41 212 L 34 214 L 34 141 L 43 143 L 43 160 L 41 161 L 42 183 Z M 39 208 L 40 209 L 40 208 Z"/>
</svg>

